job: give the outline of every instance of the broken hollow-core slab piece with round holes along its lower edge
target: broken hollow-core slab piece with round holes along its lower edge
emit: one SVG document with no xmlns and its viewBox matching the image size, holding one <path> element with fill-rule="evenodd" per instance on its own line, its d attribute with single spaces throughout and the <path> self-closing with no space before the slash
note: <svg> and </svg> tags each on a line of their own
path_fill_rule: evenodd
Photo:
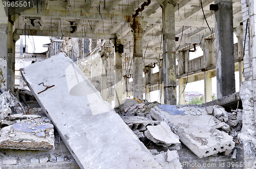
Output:
<svg viewBox="0 0 256 169">
<path fill-rule="evenodd" d="M 181 124 L 177 132 L 181 142 L 199 158 L 234 148 L 232 136 L 210 126 Z"/>
</svg>

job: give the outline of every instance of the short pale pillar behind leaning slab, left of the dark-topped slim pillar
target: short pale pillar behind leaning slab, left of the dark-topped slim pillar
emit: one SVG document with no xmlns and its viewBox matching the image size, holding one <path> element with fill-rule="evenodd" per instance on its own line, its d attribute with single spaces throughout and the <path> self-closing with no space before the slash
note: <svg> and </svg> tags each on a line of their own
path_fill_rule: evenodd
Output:
<svg viewBox="0 0 256 169">
<path fill-rule="evenodd" d="M 101 97 L 104 101 L 108 100 L 108 85 L 107 85 L 108 77 L 106 76 L 106 57 L 103 55 L 101 58 Z"/>
</svg>

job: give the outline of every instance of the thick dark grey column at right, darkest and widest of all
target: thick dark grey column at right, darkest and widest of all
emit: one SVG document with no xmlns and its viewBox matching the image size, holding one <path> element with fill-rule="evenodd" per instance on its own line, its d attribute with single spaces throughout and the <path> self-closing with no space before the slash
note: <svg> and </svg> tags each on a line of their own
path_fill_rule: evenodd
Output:
<svg viewBox="0 0 256 169">
<path fill-rule="evenodd" d="M 236 92 L 234 80 L 234 45 L 232 0 L 215 0 L 215 44 L 217 98 Z"/>
</svg>

